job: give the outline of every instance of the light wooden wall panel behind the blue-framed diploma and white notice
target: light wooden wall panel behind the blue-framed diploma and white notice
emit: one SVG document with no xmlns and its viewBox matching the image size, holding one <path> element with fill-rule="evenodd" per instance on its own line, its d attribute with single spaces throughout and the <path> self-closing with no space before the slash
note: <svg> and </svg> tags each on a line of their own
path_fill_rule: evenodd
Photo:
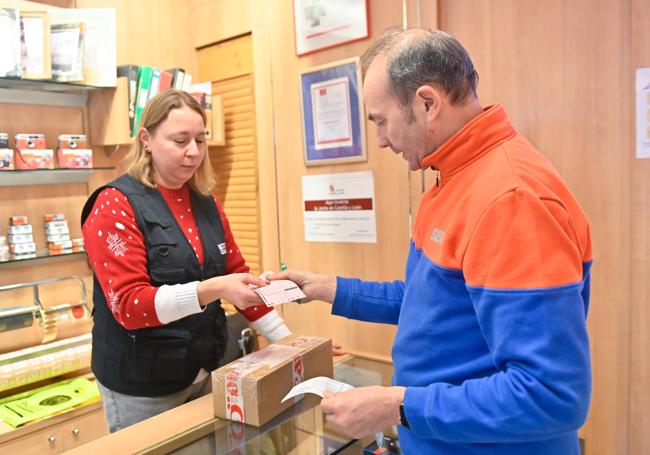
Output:
<svg viewBox="0 0 650 455">
<path fill-rule="evenodd" d="M 264 2 L 266 3 L 266 2 Z M 390 0 L 370 2 L 371 31 L 377 36 L 390 25 L 402 21 L 402 4 Z M 374 127 L 367 130 L 368 162 L 306 168 L 300 118 L 298 75 L 312 66 L 360 55 L 370 40 L 339 46 L 303 57 L 295 56 L 293 10 L 291 2 L 273 2 L 273 7 L 259 6 L 253 22 L 255 51 L 268 52 L 270 74 L 258 73 L 270 80 L 269 103 L 272 118 L 265 118 L 267 132 L 273 130 L 271 146 L 260 148 L 260 154 L 275 152 L 274 169 L 277 182 L 277 219 L 279 256 L 289 266 L 308 268 L 324 273 L 357 276 L 371 280 L 393 280 L 404 277 L 404 264 L 410 238 L 409 173 L 406 163 L 392 152 L 377 147 Z M 266 40 L 266 41 L 263 41 Z M 262 60 L 262 57 L 256 57 Z M 268 96 L 268 94 L 267 94 Z M 268 136 L 266 136 L 268 138 Z M 377 202 L 376 244 L 305 242 L 302 211 L 301 176 L 324 173 L 372 170 Z M 265 168 L 265 172 L 272 172 Z M 272 264 L 277 269 L 277 264 Z M 284 317 L 292 330 L 331 336 L 345 348 L 387 354 L 395 329 L 391 326 L 366 324 L 336 318 L 327 304 L 285 305 Z"/>
</svg>

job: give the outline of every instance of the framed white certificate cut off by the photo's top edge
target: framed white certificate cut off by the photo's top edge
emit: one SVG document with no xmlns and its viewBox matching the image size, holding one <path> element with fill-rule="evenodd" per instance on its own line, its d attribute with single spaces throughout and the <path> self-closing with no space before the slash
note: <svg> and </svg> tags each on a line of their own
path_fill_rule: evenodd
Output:
<svg viewBox="0 0 650 455">
<path fill-rule="evenodd" d="M 368 0 L 293 0 L 296 55 L 370 36 Z"/>
</svg>

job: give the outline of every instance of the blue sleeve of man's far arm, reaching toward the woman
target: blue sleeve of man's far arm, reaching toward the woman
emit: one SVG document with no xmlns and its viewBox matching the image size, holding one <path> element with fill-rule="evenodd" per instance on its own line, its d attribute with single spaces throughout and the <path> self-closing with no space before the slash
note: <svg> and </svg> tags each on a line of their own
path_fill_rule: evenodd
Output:
<svg viewBox="0 0 650 455">
<path fill-rule="evenodd" d="M 336 277 L 332 314 L 367 322 L 397 324 L 404 282 L 361 281 Z"/>
</svg>

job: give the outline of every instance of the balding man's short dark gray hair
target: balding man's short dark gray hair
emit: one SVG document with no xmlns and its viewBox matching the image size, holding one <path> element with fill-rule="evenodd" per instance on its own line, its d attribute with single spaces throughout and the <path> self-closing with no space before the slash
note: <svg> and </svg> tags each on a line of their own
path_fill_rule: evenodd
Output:
<svg viewBox="0 0 650 455">
<path fill-rule="evenodd" d="M 476 97 L 478 73 L 465 48 L 440 30 L 391 27 L 361 56 L 364 78 L 379 54 L 385 54 L 389 89 L 400 105 L 410 106 L 415 91 L 433 85 L 460 104 Z"/>
</svg>

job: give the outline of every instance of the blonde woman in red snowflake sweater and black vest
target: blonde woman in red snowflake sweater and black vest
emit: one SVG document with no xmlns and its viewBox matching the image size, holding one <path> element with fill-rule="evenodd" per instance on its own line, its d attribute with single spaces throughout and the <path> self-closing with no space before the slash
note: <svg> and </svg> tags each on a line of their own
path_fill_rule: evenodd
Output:
<svg viewBox="0 0 650 455">
<path fill-rule="evenodd" d="M 252 288 L 219 201 L 205 113 L 167 90 L 145 108 L 127 174 L 82 213 L 94 271 L 92 370 L 114 432 L 209 393 L 227 299 L 270 342 L 291 332 Z"/>
</svg>

